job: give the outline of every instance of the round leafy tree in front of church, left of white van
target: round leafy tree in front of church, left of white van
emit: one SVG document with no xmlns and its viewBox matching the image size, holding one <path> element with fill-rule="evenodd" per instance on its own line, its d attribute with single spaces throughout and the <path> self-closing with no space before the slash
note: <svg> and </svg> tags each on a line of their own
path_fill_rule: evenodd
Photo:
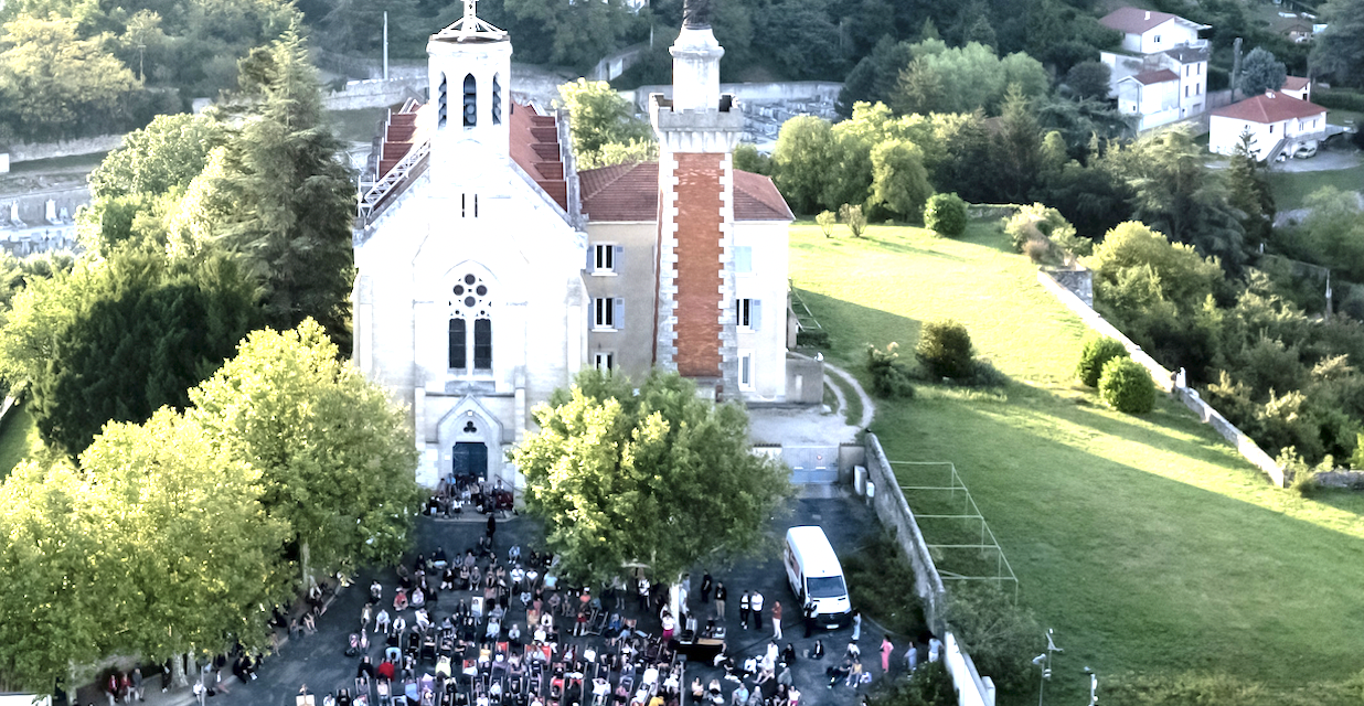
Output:
<svg viewBox="0 0 1364 706">
<path fill-rule="evenodd" d="M 540 431 L 512 459 L 561 571 L 581 583 L 629 563 L 672 582 L 702 559 L 752 553 L 790 495 L 790 472 L 749 447 L 743 408 L 698 398 L 677 373 L 653 372 L 636 393 L 584 371 L 533 416 Z"/>
</svg>

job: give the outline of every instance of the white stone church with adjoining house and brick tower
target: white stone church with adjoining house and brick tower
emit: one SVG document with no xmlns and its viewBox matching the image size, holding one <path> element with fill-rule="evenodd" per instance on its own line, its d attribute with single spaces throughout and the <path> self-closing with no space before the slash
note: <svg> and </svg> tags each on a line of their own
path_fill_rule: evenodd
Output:
<svg viewBox="0 0 1364 706">
<path fill-rule="evenodd" d="M 732 166 L 743 116 L 704 12 L 651 98 L 659 162 L 578 172 L 566 112 L 512 99 L 512 41 L 473 5 L 427 44 L 427 102 L 390 112 L 355 226 L 353 360 L 411 408 L 419 482 L 518 487 L 506 452 L 585 365 L 818 402 L 818 371 L 788 365 L 791 210 Z"/>
</svg>

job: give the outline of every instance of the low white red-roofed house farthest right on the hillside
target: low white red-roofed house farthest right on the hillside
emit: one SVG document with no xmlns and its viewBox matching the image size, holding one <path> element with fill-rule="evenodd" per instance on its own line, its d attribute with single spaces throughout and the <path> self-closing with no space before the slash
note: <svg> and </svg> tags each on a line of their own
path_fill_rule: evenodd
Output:
<svg viewBox="0 0 1364 706">
<path fill-rule="evenodd" d="M 1232 154 L 1248 134 L 1255 158 L 1274 159 L 1299 147 L 1316 147 L 1326 138 L 1326 109 L 1269 91 L 1213 110 L 1210 127 L 1210 151 Z"/>
</svg>

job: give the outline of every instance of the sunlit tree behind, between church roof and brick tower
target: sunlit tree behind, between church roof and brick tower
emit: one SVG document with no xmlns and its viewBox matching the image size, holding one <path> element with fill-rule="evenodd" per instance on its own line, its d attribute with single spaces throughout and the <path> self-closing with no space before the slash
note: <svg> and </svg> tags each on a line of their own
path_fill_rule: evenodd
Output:
<svg viewBox="0 0 1364 706">
<path fill-rule="evenodd" d="M 569 109 L 573 125 L 573 155 L 585 169 L 606 166 L 600 164 L 602 153 L 611 144 L 653 142 L 649 125 L 634 117 L 630 101 L 604 80 L 580 78 L 565 83 L 559 86 L 559 99 Z"/>
</svg>

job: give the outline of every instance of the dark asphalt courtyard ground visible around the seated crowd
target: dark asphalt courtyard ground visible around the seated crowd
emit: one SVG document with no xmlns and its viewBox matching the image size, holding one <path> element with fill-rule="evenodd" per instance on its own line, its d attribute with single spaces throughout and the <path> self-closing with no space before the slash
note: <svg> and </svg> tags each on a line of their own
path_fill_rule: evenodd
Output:
<svg viewBox="0 0 1364 706">
<path fill-rule="evenodd" d="M 798 611 L 791 605 L 795 598 L 791 594 L 791 589 L 786 585 L 784 571 L 777 556 L 777 542 L 786 527 L 806 523 L 821 525 L 839 553 L 853 552 L 865 544 L 873 532 L 877 532 L 874 515 L 870 508 L 847 496 L 799 499 L 794 500 L 780 517 L 772 519 L 769 545 L 762 548 L 758 559 L 727 570 L 712 567 L 715 568 L 715 578 L 723 582 L 730 590 L 730 605 L 724 624 L 730 634 L 727 641 L 730 654 L 735 660 L 742 661 L 743 657 L 758 654 L 765 649 L 772 632 L 769 612 L 772 601 L 782 601 L 787 607 L 784 642 L 792 643 L 801 656 L 814 645 L 816 638 L 803 638 L 803 628 L 797 615 Z M 477 537 L 483 534 L 483 530 L 484 525 L 481 521 L 446 522 L 423 518 L 420 521 L 417 551 L 430 556 L 436 547 L 443 545 L 453 556 L 457 552 L 462 552 L 466 547 L 472 547 L 477 541 Z M 501 552 L 505 552 L 513 544 L 522 545 L 528 552 L 529 548 L 537 545 L 540 537 L 542 530 L 535 521 L 525 517 L 510 518 L 498 525 L 496 544 Z M 702 605 L 697 596 L 700 575 L 704 570 L 705 567 L 697 567 L 692 582 L 692 609 L 698 616 L 713 611 L 711 605 Z M 346 635 L 356 630 L 359 624 L 360 608 L 367 597 L 366 586 L 368 586 L 371 578 L 374 577 L 364 574 L 355 586 L 341 590 L 326 615 L 318 620 L 318 632 L 286 642 L 278 656 L 265 661 L 258 680 L 247 684 L 237 684 L 235 680 L 229 680 L 226 684 L 229 691 L 207 699 L 207 703 L 217 706 L 289 706 L 293 705 L 300 684 L 306 683 L 310 690 L 319 695 L 342 686 L 351 686 L 359 658 L 345 657 Z M 391 596 L 396 585 L 396 574 L 393 571 L 383 571 L 378 578 L 385 583 L 386 596 Z M 742 630 L 738 624 L 738 598 L 745 589 L 758 589 L 767 597 L 761 630 Z M 907 586 L 906 590 L 910 590 L 910 587 Z M 439 608 L 435 611 L 438 620 L 443 619 L 454 608 L 458 598 L 469 596 L 465 592 L 454 593 L 447 592 L 441 596 Z M 513 600 L 513 615 L 524 623 L 524 609 L 518 612 L 516 611 L 517 607 L 518 601 Z M 637 616 L 634 600 L 626 601 L 625 613 Z M 412 619 L 411 611 L 406 617 Z M 660 630 L 657 617 L 641 617 L 640 628 L 657 634 Z M 851 628 L 824 632 L 817 636 L 824 639 L 829 657 L 818 662 L 801 658 L 792 671 L 794 684 L 803 695 L 802 703 L 833 705 L 854 702 L 855 695 L 851 688 L 840 684 L 831 690 L 827 687 L 827 679 L 824 677 L 824 669 L 831 664 L 831 660 L 842 657 L 851 636 Z M 576 639 L 596 645 L 597 647 L 602 646 L 602 638 L 589 636 Z M 878 645 L 880 634 L 869 623 L 865 624 L 861 639 L 861 646 L 865 651 L 863 664 L 876 677 L 881 676 L 880 660 L 874 654 Z M 902 661 L 904 647 L 904 643 L 896 645 L 892 671 Z M 379 645 L 374 645 L 370 651 L 375 660 L 382 657 Z M 922 651 L 921 647 L 921 654 Z M 709 668 L 709 665 L 698 668 L 694 664 L 689 666 L 687 681 L 697 673 L 702 677 L 702 683 L 709 683 L 712 677 L 722 675 L 720 671 Z M 172 690 L 169 694 L 162 695 L 160 692 L 158 677 L 150 679 L 149 683 L 155 684 L 155 687 L 147 690 L 147 703 L 153 706 L 183 706 L 192 701 L 188 690 L 183 688 Z M 727 699 L 726 703 L 728 703 L 730 692 L 735 684 L 724 680 L 722 683 Z M 102 705 L 105 701 L 102 695 L 83 690 L 79 703 Z M 321 698 L 318 703 L 321 705 Z"/>
</svg>

